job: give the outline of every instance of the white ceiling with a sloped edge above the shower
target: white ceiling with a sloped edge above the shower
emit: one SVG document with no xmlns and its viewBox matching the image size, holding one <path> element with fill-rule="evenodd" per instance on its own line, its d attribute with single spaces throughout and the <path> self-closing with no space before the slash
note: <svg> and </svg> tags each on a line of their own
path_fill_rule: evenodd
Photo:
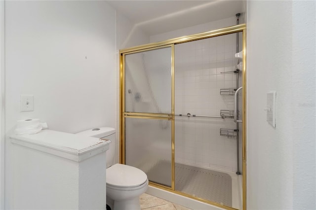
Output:
<svg viewBox="0 0 316 210">
<path fill-rule="evenodd" d="M 191 27 L 243 12 L 243 0 L 107 0 L 148 35 Z"/>
</svg>

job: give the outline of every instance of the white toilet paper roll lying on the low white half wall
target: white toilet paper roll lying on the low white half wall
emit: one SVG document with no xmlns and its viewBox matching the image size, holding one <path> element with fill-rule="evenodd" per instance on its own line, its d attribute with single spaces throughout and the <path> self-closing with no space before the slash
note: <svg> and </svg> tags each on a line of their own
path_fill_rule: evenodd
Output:
<svg viewBox="0 0 316 210">
<path fill-rule="evenodd" d="M 36 134 L 43 128 L 40 119 L 24 119 L 16 122 L 16 129 L 14 130 L 16 135 Z"/>
</svg>

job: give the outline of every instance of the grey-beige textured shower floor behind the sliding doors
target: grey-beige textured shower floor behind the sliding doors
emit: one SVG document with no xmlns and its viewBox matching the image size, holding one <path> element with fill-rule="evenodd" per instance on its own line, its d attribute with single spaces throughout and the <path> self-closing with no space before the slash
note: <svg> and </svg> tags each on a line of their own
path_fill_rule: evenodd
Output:
<svg viewBox="0 0 316 210">
<path fill-rule="evenodd" d="M 170 166 L 159 161 L 146 174 L 149 180 L 165 184 L 171 178 L 166 176 L 171 174 Z M 232 207 L 232 176 L 227 173 L 175 163 L 175 190 Z"/>
</svg>

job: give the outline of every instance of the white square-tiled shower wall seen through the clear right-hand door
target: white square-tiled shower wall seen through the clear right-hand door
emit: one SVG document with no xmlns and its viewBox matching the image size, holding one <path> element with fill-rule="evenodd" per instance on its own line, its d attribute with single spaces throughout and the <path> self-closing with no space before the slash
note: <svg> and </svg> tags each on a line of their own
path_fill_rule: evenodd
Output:
<svg viewBox="0 0 316 210">
<path fill-rule="evenodd" d="M 234 109 L 234 96 L 221 88 L 236 88 L 236 34 L 175 46 L 176 114 L 220 115 Z M 233 119 L 176 117 L 176 162 L 237 171 L 235 139 L 220 136 L 220 128 L 235 129 Z"/>
</svg>

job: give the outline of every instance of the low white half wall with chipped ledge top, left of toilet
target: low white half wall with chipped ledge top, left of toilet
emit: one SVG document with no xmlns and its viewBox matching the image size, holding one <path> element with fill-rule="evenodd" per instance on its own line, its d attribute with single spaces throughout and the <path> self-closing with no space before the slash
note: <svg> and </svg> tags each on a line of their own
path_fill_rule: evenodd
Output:
<svg viewBox="0 0 316 210">
<path fill-rule="evenodd" d="M 52 130 L 10 140 L 12 209 L 106 209 L 110 141 Z"/>
</svg>

